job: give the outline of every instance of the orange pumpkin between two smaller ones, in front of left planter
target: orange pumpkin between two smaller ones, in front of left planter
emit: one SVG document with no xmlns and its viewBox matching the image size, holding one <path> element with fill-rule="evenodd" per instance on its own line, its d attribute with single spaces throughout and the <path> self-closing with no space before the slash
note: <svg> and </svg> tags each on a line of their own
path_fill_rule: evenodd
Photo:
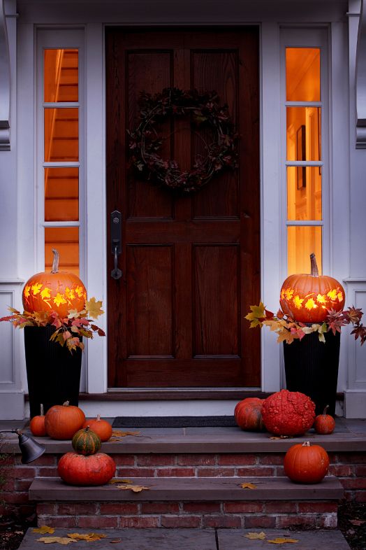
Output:
<svg viewBox="0 0 366 550">
<path fill-rule="evenodd" d="M 85 421 L 85 414 L 79 407 L 69 405 L 54 405 L 45 415 L 45 429 L 52 439 L 72 439 Z"/>
</svg>

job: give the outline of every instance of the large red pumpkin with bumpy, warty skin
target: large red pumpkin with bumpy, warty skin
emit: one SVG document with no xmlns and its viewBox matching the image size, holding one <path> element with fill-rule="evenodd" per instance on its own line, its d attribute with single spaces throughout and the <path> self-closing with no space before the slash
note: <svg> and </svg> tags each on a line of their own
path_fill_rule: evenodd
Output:
<svg viewBox="0 0 366 550">
<path fill-rule="evenodd" d="M 315 404 L 304 393 L 281 390 L 265 399 L 262 418 L 274 435 L 303 435 L 314 423 Z"/>
</svg>

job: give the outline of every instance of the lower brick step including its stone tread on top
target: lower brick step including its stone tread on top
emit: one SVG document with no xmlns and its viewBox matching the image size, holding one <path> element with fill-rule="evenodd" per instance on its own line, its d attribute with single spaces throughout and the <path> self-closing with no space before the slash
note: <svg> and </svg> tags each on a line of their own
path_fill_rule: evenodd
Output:
<svg viewBox="0 0 366 550">
<path fill-rule="evenodd" d="M 250 482 L 256 488 L 242 488 Z M 286 477 L 135 478 L 140 493 L 74 487 L 59 478 L 36 478 L 29 499 L 38 525 L 93 528 L 336 528 L 342 484 L 293 484 Z"/>
</svg>

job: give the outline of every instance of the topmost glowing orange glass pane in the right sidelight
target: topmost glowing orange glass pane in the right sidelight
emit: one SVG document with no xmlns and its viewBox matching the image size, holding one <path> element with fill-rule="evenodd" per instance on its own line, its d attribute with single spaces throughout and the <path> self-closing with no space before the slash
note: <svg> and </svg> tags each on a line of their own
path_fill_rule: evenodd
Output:
<svg viewBox="0 0 366 550">
<path fill-rule="evenodd" d="M 320 99 L 320 49 L 286 48 L 286 101 Z"/>
</svg>

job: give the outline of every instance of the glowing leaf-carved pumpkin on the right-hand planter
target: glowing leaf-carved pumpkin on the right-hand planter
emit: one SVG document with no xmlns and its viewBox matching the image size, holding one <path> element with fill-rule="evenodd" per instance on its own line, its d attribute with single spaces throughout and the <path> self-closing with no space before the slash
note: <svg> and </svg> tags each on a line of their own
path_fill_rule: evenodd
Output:
<svg viewBox="0 0 366 550">
<path fill-rule="evenodd" d="M 319 275 L 315 254 L 310 254 L 310 264 L 310 274 L 286 278 L 279 303 L 286 315 L 300 323 L 323 323 L 328 309 L 342 311 L 344 308 L 344 288 L 335 278 Z"/>
</svg>

